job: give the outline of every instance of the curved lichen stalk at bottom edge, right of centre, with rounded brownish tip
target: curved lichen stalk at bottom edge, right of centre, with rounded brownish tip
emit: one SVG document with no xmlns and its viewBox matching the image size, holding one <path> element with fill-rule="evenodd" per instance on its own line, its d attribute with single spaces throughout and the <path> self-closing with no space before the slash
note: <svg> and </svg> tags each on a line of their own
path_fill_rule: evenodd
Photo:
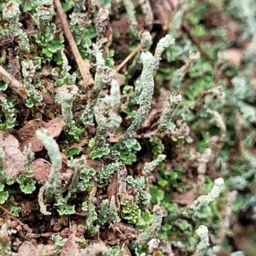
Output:
<svg viewBox="0 0 256 256">
<path fill-rule="evenodd" d="M 147 245 L 147 243 L 157 236 L 159 229 L 161 228 L 161 223 L 163 220 L 163 210 L 159 205 L 154 205 L 153 207 L 153 220 L 152 224 L 147 231 L 143 232 L 139 239 L 131 243 L 130 248 L 136 251 L 141 250 Z"/>
</svg>

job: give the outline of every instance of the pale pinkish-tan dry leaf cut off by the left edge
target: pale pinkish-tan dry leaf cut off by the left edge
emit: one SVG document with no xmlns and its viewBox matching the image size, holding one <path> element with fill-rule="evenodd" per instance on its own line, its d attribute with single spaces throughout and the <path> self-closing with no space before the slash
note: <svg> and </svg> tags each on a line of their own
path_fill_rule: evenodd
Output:
<svg viewBox="0 0 256 256">
<path fill-rule="evenodd" d="M 25 172 L 24 156 L 19 141 L 12 135 L 0 131 L 0 147 L 4 150 L 4 168 L 8 177 L 16 179 Z"/>
</svg>

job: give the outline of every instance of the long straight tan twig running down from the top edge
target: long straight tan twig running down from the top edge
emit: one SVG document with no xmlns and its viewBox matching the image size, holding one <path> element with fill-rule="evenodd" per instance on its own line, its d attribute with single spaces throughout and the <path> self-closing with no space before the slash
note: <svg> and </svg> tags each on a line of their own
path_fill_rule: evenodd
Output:
<svg viewBox="0 0 256 256">
<path fill-rule="evenodd" d="M 56 10 L 58 12 L 58 16 L 60 18 L 61 24 L 63 26 L 63 31 L 68 40 L 68 44 L 70 45 L 70 48 L 75 56 L 78 68 L 83 77 L 84 88 L 90 88 L 93 86 L 94 81 L 90 75 L 88 64 L 86 63 L 86 61 L 83 60 L 83 58 L 81 57 L 81 55 L 78 51 L 76 42 L 75 42 L 73 35 L 71 33 L 71 30 L 68 26 L 67 15 L 61 6 L 60 0 L 54 0 L 54 4 L 55 4 Z"/>
</svg>

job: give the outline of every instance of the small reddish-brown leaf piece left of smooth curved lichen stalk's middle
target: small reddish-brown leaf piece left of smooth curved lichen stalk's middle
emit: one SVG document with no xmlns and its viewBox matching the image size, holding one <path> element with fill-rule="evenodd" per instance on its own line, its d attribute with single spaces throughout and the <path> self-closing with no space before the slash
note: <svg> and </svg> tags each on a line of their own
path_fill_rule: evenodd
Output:
<svg viewBox="0 0 256 256">
<path fill-rule="evenodd" d="M 47 182 L 49 177 L 49 173 L 51 172 L 51 163 L 46 161 L 45 159 L 36 159 L 31 164 L 31 168 L 33 169 L 33 179 L 40 185 L 44 185 Z"/>
</svg>

